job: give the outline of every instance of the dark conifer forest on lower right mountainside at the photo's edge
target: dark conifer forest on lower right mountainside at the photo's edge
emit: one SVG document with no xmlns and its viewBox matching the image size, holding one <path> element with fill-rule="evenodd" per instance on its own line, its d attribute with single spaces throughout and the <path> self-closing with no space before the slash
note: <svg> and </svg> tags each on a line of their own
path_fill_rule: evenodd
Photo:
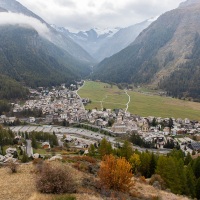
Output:
<svg viewBox="0 0 200 200">
<path fill-rule="evenodd" d="M 192 54 L 186 63 L 181 64 L 175 72 L 161 82 L 160 87 L 174 97 L 191 97 L 200 101 L 200 36 L 197 33 Z"/>
</svg>

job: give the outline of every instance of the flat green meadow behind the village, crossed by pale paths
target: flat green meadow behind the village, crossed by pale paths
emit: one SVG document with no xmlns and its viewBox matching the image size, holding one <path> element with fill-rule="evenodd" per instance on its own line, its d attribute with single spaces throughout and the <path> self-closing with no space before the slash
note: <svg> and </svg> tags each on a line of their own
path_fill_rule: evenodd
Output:
<svg viewBox="0 0 200 200">
<path fill-rule="evenodd" d="M 128 96 L 123 90 L 106 83 L 86 81 L 78 94 L 89 98 L 92 103 L 86 109 L 126 108 Z M 200 103 L 183 101 L 169 97 L 147 95 L 128 91 L 131 97 L 128 111 L 140 116 L 175 117 L 200 120 Z"/>
</svg>

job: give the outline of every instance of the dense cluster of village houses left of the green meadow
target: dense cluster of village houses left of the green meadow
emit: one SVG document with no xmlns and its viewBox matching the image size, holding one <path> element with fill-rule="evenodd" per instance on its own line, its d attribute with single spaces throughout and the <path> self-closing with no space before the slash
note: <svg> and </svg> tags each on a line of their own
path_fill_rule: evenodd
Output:
<svg viewBox="0 0 200 200">
<path fill-rule="evenodd" d="M 75 91 L 62 88 L 53 88 L 51 91 L 47 89 L 38 92 L 31 90 L 32 98 L 27 100 L 24 105 L 14 104 L 13 112 L 22 111 L 40 111 L 42 122 L 49 124 L 55 121 L 77 123 L 87 120 L 87 111 L 84 109 L 82 99 Z M 84 101 L 87 101 L 84 99 Z M 41 119 L 40 119 L 41 120 Z M 35 117 L 30 117 L 28 122 L 36 122 Z"/>
</svg>

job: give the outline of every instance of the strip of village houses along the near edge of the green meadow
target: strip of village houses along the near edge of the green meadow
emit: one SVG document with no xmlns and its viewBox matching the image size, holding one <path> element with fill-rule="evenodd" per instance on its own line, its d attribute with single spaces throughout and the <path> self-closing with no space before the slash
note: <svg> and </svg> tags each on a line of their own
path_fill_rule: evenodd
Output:
<svg viewBox="0 0 200 200">
<path fill-rule="evenodd" d="M 189 119 L 161 118 L 161 117 L 140 117 L 132 115 L 123 110 L 98 111 L 93 109 L 88 113 L 88 121 L 90 124 L 105 128 L 108 126 L 109 120 L 114 120 L 111 131 L 116 134 L 125 134 L 132 131 L 138 133 L 158 133 L 162 135 L 177 134 L 196 134 L 200 133 L 200 122 L 190 121 Z M 172 120 L 172 127 L 168 126 L 169 120 Z M 156 125 L 152 125 L 153 121 Z"/>
</svg>

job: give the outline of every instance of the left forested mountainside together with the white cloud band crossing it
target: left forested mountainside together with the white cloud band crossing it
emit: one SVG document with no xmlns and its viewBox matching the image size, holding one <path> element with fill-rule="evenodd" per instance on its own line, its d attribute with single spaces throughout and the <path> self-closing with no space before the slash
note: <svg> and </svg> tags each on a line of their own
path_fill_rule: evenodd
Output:
<svg viewBox="0 0 200 200">
<path fill-rule="evenodd" d="M 94 60 L 78 44 L 15 0 L 0 0 L 0 8 L 1 74 L 32 87 L 88 75 Z"/>
</svg>

